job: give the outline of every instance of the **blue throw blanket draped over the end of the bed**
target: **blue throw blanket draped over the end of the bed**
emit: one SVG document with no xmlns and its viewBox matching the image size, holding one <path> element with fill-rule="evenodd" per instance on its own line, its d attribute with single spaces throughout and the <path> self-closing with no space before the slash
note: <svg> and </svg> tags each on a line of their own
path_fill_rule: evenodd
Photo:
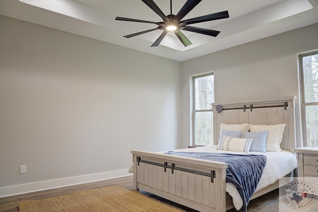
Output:
<svg viewBox="0 0 318 212">
<path fill-rule="evenodd" d="M 228 163 L 226 182 L 234 184 L 243 201 L 242 212 L 247 211 L 248 202 L 256 190 L 266 165 L 266 156 L 256 154 L 229 154 L 207 152 L 173 152 L 165 154 L 214 160 Z"/>
</svg>

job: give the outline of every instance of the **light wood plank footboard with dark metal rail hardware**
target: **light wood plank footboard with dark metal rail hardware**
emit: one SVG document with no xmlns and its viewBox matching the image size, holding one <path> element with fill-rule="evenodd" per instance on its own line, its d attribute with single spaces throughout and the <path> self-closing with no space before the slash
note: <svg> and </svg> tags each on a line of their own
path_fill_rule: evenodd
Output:
<svg viewBox="0 0 318 212">
<path fill-rule="evenodd" d="M 227 163 L 132 150 L 134 189 L 201 212 L 226 211 Z"/>
</svg>

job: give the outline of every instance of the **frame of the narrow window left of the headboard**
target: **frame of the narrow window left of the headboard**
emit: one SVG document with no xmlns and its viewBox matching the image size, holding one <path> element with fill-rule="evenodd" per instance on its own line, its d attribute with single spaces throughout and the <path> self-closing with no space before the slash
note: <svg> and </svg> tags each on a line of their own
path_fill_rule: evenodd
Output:
<svg viewBox="0 0 318 212">
<path fill-rule="evenodd" d="M 199 74 L 199 75 L 194 75 L 192 76 L 192 123 L 191 123 L 191 127 L 192 127 L 192 145 L 193 146 L 204 146 L 204 145 L 199 145 L 199 144 L 196 144 L 196 140 L 195 140 L 195 120 L 196 120 L 196 113 L 200 113 L 200 112 L 212 112 L 212 115 L 213 115 L 213 107 L 211 109 L 207 109 L 207 110 L 196 110 L 196 96 L 195 96 L 195 79 L 196 78 L 201 78 L 201 77 L 205 77 L 205 76 L 210 76 L 210 75 L 213 75 L 214 76 L 214 72 L 209 72 L 209 73 L 204 73 L 204 74 Z M 213 94 L 214 95 L 214 94 Z M 214 102 L 211 102 L 211 103 L 214 103 Z M 210 103 L 210 104 L 211 104 Z M 212 129 L 213 130 L 213 129 Z M 212 138 L 213 140 L 213 138 Z M 213 141 L 212 141 L 213 143 Z"/>
</svg>

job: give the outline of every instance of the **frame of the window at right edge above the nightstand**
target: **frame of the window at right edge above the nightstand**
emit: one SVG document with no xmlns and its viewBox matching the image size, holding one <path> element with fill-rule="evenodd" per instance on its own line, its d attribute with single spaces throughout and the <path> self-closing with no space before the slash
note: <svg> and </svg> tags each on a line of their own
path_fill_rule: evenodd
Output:
<svg viewBox="0 0 318 212">
<path fill-rule="evenodd" d="M 318 106 L 318 102 L 306 102 L 305 99 L 305 82 L 304 82 L 304 70 L 303 70 L 303 58 L 317 55 L 318 50 L 314 50 L 308 53 L 299 54 L 299 70 L 300 70 L 300 89 L 301 89 L 301 114 L 302 114 L 302 129 L 303 129 L 303 146 L 308 146 L 307 142 L 307 120 L 306 120 L 306 106 Z"/>
</svg>

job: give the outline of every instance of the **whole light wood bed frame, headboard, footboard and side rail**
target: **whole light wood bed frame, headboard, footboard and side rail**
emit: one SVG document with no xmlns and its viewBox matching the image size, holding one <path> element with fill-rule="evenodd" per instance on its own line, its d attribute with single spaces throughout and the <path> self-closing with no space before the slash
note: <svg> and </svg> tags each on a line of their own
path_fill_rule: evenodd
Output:
<svg viewBox="0 0 318 212">
<path fill-rule="evenodd" d="M 294 152 L 295 100 L 292 96 L 212 104 L 214 143 L 219 138 L 220 123 L 285 123 L 281 148 Z M 217 106 L 221 106 L 221 113 L 217 112 Z M 232 197 L 225 191 L 227 163 L 141 150 L 131 152 L 135 190 L 150 192 L 200 212 L 225 212 L 233 208 Z M 252 199 L 278 187 L 277 181 L 254 193 Z"/>
</svg>

